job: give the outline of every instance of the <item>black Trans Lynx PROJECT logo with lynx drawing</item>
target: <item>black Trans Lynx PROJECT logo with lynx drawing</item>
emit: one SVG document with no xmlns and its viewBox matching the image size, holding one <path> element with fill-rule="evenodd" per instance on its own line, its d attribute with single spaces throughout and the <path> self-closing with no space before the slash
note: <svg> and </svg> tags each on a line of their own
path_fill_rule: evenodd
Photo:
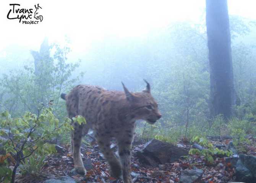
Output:
<svg viewBox="0 0 256 183">
<path fill-rule="evenodd" d="M 23 8 L 20 4 L 10 4 L 11 8 L 7 14 L 8 19 L 18 19 L 22 24 L 38 24 L 42 22 L 42 7 L 39 4 L 34 8 Z M 34 16 L 33 16 L 34 15 Z"/>
</svg>

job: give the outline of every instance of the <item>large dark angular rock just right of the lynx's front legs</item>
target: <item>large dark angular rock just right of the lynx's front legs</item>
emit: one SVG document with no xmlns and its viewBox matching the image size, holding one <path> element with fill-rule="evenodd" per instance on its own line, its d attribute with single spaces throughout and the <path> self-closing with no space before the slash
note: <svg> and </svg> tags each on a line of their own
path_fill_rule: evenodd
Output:
<svg viewBox="0 0 256 183">
<path fill-rule="evenodd" d="M 157 167 L 159 164 L 174 162 L 181 156 L 187 156 L 188 150 L 153 139 L 144 145 L 143 150 L 138 150 L 136 155 L 139 161 Z"/>
</svg>

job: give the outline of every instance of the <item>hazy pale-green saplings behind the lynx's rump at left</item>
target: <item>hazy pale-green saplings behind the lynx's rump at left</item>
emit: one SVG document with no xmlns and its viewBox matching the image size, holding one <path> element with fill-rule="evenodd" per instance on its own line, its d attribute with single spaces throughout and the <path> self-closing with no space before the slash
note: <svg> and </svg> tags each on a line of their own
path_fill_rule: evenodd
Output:
<svg viewBox="0 0 256 183">
<path fill-rule="evenodd" d="M 48 51 L 52 51 L 53 56 L 43 55 L 47 59 L 38 61 L 37 72 L 32 65 L 3 74 L 0 80 L 0 111 L 6 110 L 13 116 L 22 116 L 26 111 L 36 113 L 43 104 L 53 107 L 53 113 L 60 121 L 64 119 L 66 109 L 60 94 L 73 88 L 79 78 L 83 77 L 83 73 L 80 73 L 71 78 L 81 60 L 67 64 L 70 53 L 68 46 L 53 44 L 50 48 Z"/>
</svg>

